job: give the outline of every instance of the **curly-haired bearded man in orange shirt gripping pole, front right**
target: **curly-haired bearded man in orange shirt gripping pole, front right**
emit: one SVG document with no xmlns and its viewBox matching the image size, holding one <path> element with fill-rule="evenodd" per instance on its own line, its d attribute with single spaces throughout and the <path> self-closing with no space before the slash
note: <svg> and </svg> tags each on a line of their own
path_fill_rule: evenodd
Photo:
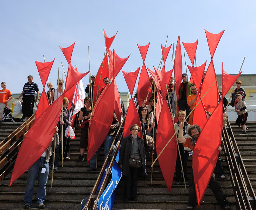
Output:
<svg viewBox="0 0 256 210">
<path fill-rule="evenodd" d="M 199 135 L 201 133 L 201 128 L 198 125 L 192 125 L 189 129 L 188 129 L 188 135 L 190 135 L 192 138 L 183 138 L 183 126 L 184 123 L 181 122 L 179 124 L 179 138 L 176 139 L 176 142 L 181 142 L 183 143 L 184 147 L 189 147 L 191 149 L 191 151 L 193 152 L 196 142 L 199 138 Z M 218 151 L 221 151 L 221 146 L 219 146 Z M 191 155 L 193 154 L 191 152 Z M 229 206 L 229 202 L 228 200 L 226 200 L 223 191 L 219 185 L 219 183 L 216 180 L 215 174 L 212 174 L 212 177 L 210 179 L 209 182 L 209 187 L 212 189 L 212 192 L 216 198 L 216 200 L 219 202 L 220 206 L 224 209 L 224 210 L 231 210 L 230 206 Z M 197 196 L 196 196 L 196 189 L 195 189 L 195 184 L 194 184 L 194 175 L 192 172 L 191 175 L 191 181 L 190 181 L 190 189 L 189 189 L 189 196 L 188 196 L 188 201 L 187 201 L 187 210 L 192 210 L 194 209 L 194 207 L 196 206 L 196 202 L 197 202 Z"/>
</svg>

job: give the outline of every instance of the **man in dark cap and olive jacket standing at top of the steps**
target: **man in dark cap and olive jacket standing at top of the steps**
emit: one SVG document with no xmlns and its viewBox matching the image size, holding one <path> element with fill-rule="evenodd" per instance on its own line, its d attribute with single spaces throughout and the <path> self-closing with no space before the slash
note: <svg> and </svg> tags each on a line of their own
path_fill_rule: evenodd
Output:
<svg viewBox="0 0 256 210">
<path fill-rule="evenodd" d="M 190 107 L 187 105 L 187 97 L 192 95 L 191 92 L 191 82 L 187 81 L 187 74 L 182 74 L 183 82 L 180 85 L 180 94 L 179 94 L 179 110 L 186 111 L 186 116 L 190 113 Z M 188 119 L 187 119 L 188 121 Z"/>
</svg>

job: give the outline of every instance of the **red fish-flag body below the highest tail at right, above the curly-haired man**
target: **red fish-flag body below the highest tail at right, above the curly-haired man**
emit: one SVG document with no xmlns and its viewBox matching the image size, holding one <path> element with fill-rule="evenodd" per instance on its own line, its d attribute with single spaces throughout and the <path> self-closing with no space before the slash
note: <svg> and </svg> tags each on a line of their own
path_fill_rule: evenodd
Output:
<svg viewBox="0 0 256 210">
<path fill-rule="evenodd" d="M 213 61 L 211 60 L 206 74 L 204 76 L 204 81 L 201 88 L 201 96 L 204 96 L 206 91 L 212 86 L 213 82 L 216 80 L 216 73 L 213 65 Z M 219 101 L 219 90 L 217 81 L 211 87 L 211 89 L 206 93 L 204 98 L 202 99 L 205 110 L 208 112 L 213 112 L 218 105 Z"/>
</svg>

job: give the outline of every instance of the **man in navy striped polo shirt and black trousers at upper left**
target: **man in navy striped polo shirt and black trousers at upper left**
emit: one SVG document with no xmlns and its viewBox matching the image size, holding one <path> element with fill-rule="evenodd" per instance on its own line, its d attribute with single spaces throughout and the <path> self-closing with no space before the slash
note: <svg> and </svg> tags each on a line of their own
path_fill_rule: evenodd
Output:
<svg viewBox="0 0 256 210">
<path fill-rule="evenodd" d="M 33 114 L 34 103 L 37 102 L 39 96 L 39 89 L 36 83 L 33 82 L 33 77 L 31 75 L 27 76 L 28 82 L 23 86 L 23 91 L 21 92 L 18 100 L 23 95 L 23 104 L 22 104 L 22 114 L 23 122 L 25 122 Z M 35 99 L 35 92 L 37 96 Z"/>
</svg>

